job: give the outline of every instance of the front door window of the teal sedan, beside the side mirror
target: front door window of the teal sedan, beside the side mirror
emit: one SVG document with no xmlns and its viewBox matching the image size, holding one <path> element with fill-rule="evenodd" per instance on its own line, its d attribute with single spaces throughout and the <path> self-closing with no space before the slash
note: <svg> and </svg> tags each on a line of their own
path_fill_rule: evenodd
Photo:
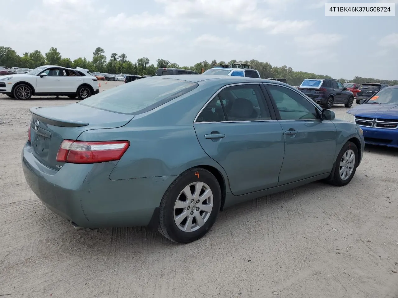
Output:
<svg viewBox="0 0 398 298">
<path fill-rule="evenodd" d="M 316 107 L 294 90 L 276 85 L 267 86 L 281 120 L 319 119 Z"/>
</svg>

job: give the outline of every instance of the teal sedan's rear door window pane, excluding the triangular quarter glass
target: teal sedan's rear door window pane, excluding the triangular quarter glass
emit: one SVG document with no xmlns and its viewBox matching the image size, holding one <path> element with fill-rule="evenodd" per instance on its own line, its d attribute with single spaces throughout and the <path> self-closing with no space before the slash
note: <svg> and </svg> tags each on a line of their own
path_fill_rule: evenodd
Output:
<svg viewBox="0 0 398 298">
<path fill-rule="evenodd" d="M 238 85 L 222 89 L 219 97 L 228 121 L 270 120 L 259 85 Z"/>
</svg>

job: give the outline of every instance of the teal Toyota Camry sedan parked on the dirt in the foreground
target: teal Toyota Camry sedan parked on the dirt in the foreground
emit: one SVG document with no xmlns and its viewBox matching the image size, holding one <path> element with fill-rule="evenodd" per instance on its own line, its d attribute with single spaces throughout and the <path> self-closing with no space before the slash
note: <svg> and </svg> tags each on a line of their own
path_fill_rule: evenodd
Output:
<svg viewBox="0 0 398 298">
<path fill-rule="evenodd" d="M 76 230 L 148 226 L 179 243 L 232 204 L 348 184 L 365 144 L 353 117 L 250 77 L 147 77 L 30 112 L 23 172 L 50 210 Z"/>
</svg>

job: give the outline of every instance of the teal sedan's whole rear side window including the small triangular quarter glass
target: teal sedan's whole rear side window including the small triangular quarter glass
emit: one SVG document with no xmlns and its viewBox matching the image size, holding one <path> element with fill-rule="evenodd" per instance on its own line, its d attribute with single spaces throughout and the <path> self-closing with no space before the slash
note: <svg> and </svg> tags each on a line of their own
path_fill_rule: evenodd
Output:
<svg viewBox="0 0 398 298">
<path fill-rule="evenodd" d="M 236 85 L 222 89 L 199 114 L 196 122 L 270 119 L 259 85 Z"/>
</svg>

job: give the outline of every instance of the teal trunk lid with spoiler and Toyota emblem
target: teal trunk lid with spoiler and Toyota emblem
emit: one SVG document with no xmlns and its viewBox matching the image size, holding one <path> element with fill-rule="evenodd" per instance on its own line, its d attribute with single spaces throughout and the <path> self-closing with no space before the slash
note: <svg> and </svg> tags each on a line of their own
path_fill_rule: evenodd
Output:
<svg viewBox="0 0 398 298">
<path fill-rule="evenodd" d="M 59 170 L 56 157 L 64 139 L 76 140 L 86 130 L 117 128 L 127 124 L 134 115 L 100 110 L 90 106 L 31 108 L 31 146 L 33 155 L 49 168 Z M 111 140 L 109 140 L 111 141 Z"/>
</svg>

